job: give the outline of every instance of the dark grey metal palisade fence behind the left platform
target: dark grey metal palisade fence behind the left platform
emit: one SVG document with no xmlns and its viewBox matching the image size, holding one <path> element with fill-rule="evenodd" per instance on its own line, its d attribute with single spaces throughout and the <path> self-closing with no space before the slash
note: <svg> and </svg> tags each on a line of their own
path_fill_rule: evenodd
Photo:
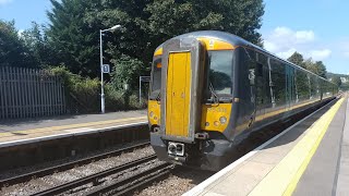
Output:
<svg viewBox="0 0 349 196">
<path fill-rule="evenodd" d="M 0 68 L 0 120 L 65 113 L 61 78 L 48 71 Z"/>
</svg>

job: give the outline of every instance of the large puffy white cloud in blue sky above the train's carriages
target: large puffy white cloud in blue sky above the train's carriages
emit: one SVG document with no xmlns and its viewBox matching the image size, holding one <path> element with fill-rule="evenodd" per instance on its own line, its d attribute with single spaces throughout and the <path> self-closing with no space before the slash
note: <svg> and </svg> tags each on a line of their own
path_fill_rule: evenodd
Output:
<svg viewBox="0 0 349 196">
<path fill-rule="evenodd" d="M 311 29 L 293 30 L 281 26 L 276 27 L 263 38 L 265 49 L 284 59 L 289 58 L 294 51 L 315 61 L 325 60 L 332 54 L 332 50 L 324 49 L 323 46 L 318 49 L 315 33 Z"/>
</svg>

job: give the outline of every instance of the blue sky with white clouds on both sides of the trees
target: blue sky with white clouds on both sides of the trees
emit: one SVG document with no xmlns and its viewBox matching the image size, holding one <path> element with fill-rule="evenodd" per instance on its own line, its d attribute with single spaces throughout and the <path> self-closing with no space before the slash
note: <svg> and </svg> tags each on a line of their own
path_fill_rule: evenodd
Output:
<svg viewBox="0 0 349 196">
<path fill-rule="evenodd" d="M 35 2 L 35 3 L 34 3 Z M 266 50 L 287 59 L 294 51 L 323 61 L 327 71 L 349 74 L 348 0 L 264 0 L 258 30 Z M 15 20 L 17 29 L 31 22 L 48 24 L 49 0 L 0 0 L 0 19 Z"/>
</svg>

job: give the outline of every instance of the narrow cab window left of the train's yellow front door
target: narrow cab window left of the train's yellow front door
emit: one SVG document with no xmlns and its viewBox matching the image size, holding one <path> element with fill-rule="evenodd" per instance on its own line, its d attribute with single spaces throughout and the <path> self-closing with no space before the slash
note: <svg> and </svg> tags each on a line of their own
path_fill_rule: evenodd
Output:
<svg viewBox="0 0 349 196">
<path fill-rule="evenodd" d="M 160 95 L 161 89 L 161 58 L 157 58 L 153 62 L 152 68 L 152 88 L 151 88 L 151 99 L 156 99 Z"/>
</svg>

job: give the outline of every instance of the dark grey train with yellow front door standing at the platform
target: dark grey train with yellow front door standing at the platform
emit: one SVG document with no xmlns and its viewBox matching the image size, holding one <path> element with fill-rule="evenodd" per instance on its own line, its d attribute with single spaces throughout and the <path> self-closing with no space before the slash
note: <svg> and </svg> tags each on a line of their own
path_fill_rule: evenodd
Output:
<svg viewBox="0 0 349 196">
<path fill-rule="evenodd" d="M 151 145 L 159 160 L 218 171 L 251 133 L 337 93 L 334 83 L 236 35 L 183 34 L 154 52 Z"/>
</svg>

